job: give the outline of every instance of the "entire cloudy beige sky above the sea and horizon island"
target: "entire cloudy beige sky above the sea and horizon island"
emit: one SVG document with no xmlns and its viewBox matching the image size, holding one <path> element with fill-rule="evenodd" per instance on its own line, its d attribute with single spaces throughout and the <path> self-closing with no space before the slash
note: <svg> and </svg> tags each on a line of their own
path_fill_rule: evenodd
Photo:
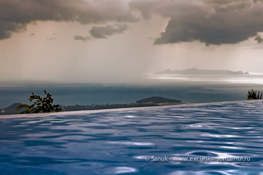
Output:
<svg viewBox="0 0 263 175">
<path fill-rule="evenodd" d="M 0 81 L 263 73 L 263 0 L 0 0 Z"/>
</svg>

